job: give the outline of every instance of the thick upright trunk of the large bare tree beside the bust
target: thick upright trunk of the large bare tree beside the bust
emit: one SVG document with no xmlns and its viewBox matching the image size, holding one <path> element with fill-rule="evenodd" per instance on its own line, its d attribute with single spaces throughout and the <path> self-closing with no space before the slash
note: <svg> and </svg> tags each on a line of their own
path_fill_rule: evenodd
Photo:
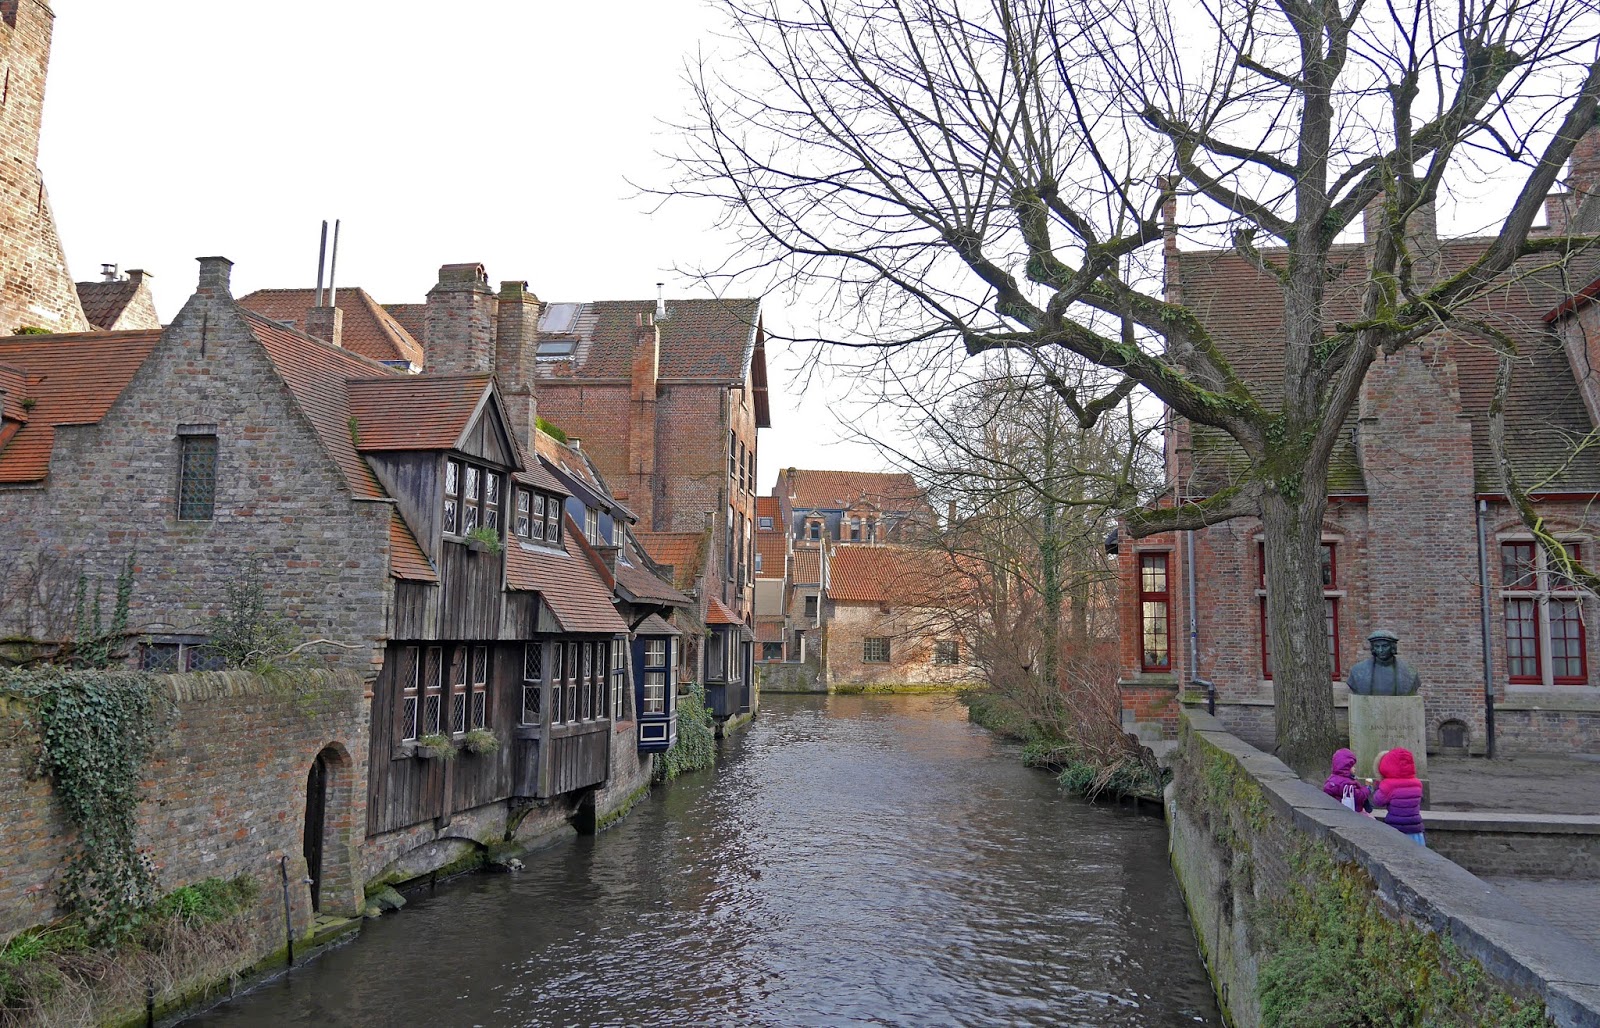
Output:
<svg viewBox="0 0 1600 1028">
<path fill-rule="evenodd" d="M 1267 623 L 1277 756 L 1302 778 L 1317 778 L 1326 775 L 1341 740 L 1322 594 L 1322 516 L 1328 500 L 1320 480 L 1306 479 L 1298 496 L 1269 493 L 1261 503 L 1261 524 L 1272 583 Z"/>
</svg>

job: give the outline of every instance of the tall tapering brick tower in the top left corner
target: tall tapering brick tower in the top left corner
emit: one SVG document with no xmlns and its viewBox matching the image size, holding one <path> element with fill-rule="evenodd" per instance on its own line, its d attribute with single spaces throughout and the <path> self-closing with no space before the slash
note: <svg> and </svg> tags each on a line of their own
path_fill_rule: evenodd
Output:
<svg viewBox="0 0 1600 1028">
<path fill-rule="evenodd" d="M 0 335 L 90 328 L 38 171 L 54 18 L 40 0 L 0 0 Z"/>
</svg>

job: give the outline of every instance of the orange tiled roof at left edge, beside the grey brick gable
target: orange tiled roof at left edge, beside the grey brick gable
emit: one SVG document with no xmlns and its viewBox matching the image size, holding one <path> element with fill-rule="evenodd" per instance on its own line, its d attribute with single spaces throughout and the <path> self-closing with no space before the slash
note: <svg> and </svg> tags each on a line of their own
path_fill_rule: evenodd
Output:
<svg viewBox="0 0 1600 1028">
<path fill-rule="evenodd" d="M 27 376 L 34 400 L 27 423 L 0 448 L 0 482 L 50 474 L 56 426 L 98 424 L 160 339 L 157 330 L 0 338 L 0 365 L 13 368 L 13 381 Z"/>
</svg>

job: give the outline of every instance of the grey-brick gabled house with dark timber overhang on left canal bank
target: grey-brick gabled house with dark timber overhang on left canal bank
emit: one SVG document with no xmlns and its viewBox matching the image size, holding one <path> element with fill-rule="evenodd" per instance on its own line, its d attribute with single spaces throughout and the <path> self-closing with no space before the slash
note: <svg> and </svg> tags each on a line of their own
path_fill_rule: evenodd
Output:
<svg viewBox="0 0 1600 1028">
<path fill-rule="evenodd" d="M 64 637 L 77 575 L 109 583 L 133 556 L 138 658 L 202 669 L 208 616 L 259 567 L 266 607 L 355 684 L 334 706 L 368 711 L 318 746 L 299 725 L 307 765 L 270 786 L 293 796 L 262 801 L 306 817 L 312 895 L 339 882 L 312 905 L 339 913 L 379 873 L 422 874 L 645 788 L 624 615 L 686 597 L 610 564 L 568 512 L 571 484 L 531 456 L 531 391 L 502 386 L 530 381 L 531 322 L 493 317 L 480 267 L 446 266 L 429 319 L 454 370 L 408 375 L 338 346 L 336 309 L 310 312 L 330 336 L 312 338 L 237 304 L 229 261 L 200 264 L 162 331 L 0 338 L 6 637 Z M 475 730 L 498 746 L 474 749 Z"/>
</svg>

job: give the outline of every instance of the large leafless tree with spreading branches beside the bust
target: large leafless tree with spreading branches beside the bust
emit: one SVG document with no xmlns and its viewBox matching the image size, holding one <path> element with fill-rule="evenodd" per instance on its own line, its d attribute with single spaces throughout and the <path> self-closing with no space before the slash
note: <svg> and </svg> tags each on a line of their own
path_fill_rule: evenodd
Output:
<svg viewBox="0 0 1600 1028">
<path fill-rule="evenodd" d="M 722 0 L 691 69 L 675 192 L 742 237 L 720 275 L 803 285 L 814 343 L 1075 354 L 1083 424 L 1133 389 L 1227 432 L 1246 472 L 1130 512 L 1149 535 L 1259 516 L 1278 753 L 1336 741 L 1318 581 L 1328 463 L 1379 354 L 1416 343 L 1530 255 L 1530 226 L 1600 96 L 1581 0 Z M 726 69 L 726 70 L 725 70 Z M 1499 237 L 1443 272 L 1408 234 L 1446 179 L 1498 176 Z M 1163 208 L 1170 227 L 1163 226 Z M 1374 208 L 1362 269 L 1334 239 Z M 1283 371 L 1250 381 L 1168 301 L 1163 229 L 1224 243 L 1282 290 Z M 1355 275 L 1360 315 L 1325 293 Z M 1346 279 L 1349 280 L 1349 279 Z"/>
</svg>

